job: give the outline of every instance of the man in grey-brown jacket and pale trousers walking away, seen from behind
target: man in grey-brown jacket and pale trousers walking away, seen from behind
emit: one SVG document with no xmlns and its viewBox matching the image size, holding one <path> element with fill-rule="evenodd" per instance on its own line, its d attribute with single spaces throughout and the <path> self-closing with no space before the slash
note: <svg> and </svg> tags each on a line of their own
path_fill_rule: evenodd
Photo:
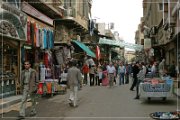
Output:
<svg viewBox="0 0 180 120">
<path fill-rule="evenodd" d="M 82 75 L 80 70 L 76 67 L 75 61 L 70 61 L 70 68 L 68 69 L 67 82 L 70 88 L 69 105 L 77 107 L 78 84 L 81 83 Z"/>
</svg>

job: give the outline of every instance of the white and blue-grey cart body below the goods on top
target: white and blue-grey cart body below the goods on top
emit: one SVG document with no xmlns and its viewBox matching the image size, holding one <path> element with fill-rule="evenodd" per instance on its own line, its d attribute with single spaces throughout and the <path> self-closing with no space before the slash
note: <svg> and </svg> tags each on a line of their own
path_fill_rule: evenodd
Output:
<svg viewBox="0 0 180 120">
<path fill-rule="evenodd" d="M 148 98 L 149 100 L 152 97 L 159 97 L 166 100 L 167 97 L 171 97 L 173 93 L 173 84 L 172 83 L 156 83 L 152 84 L 150 82 L 140 83 L 139 85 L 139 94 L 141 98 Z"/>
</svg>

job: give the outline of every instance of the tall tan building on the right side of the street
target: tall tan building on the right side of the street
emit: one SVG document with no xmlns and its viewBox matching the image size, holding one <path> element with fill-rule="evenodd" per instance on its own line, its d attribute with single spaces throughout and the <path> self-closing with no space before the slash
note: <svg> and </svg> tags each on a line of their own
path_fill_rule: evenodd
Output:
<svg viewBox="0 0 180 120">
<path fill-rule="evenodd" d="M 173 40 L 175 19 L 172 10 L 177 0 L 151 0 L 143 1 L 143 22 L 141 29 L 144 32 L 144 43 L 150 41 L 150 48 L 145 49 L 150 62 L 166 59 L 170 65 L 176 60 L 177 47 Z"/>
</svg>

